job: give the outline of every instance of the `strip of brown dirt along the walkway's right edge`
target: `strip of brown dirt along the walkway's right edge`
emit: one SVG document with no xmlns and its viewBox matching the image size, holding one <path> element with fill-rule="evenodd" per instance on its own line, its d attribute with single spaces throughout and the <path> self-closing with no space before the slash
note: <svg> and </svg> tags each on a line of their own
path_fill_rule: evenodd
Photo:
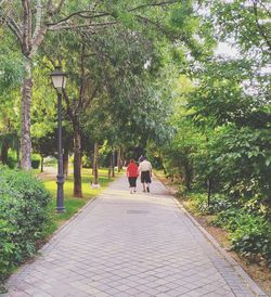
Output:
<svg viewBox="0 0 271 297">
<path fill-rule="evenodd" d="M 162 175 L 155 175 L 172 194 L 177 192 L 177 185 L 170 184 L 170 182 Z M 180 202 L 180 201 L 179 201 Z M 191 214 L 190 209 L 185 205 L 185 202 L 180 202 L 185 209 Z M 235 251 L 230 249 L 229 234 L 221 228 L 210 225 L 211 216 L 197 216 L 191 214 L 201 225 L 207 230 L 214 238 L 223 247 L 227 253 L 246 271 L 246 273 L 268 294 L 271 296 L 271 271 L 268 268 L 261 267 L 259 263 L 248 262 L 248 260 L 242 258 Z"/>
</svg>

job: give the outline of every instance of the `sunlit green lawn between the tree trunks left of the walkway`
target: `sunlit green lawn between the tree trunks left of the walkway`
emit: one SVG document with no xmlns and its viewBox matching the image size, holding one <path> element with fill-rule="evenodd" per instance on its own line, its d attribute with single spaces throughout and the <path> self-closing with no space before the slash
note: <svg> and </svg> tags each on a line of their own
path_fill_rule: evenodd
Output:
<svg viewBox="0 0 271 297">
<path fill-rule="evenodd" d="M 43 180 L 44 186 L 49 190 L 53 195 L 53 201 L 51 204 L 53 220 L 55 222 L 55 227 L 50 230 L 49 233 L 55 231 L 57 227 L 63 224 L 65 221 L 69 220 L 76 212 L 78 212 L 90 199 L 94 198 L 99 193 L 101 193 L 109 182 L 114 181 L 114 178 L 108 179 L 107 169 L 99 169 L 99 183 L 101 185 L 100 189 L 91 189 L 91 180 L 93 179 L 91 169 L 82 169 L 82 197 L 78 198 L 74 196 L 74 177 L 69 175 L 64 183 L 64 206 L 65 212 L 56 214 L 55 212 L 55 196 L 56 196 L 56 182 L 55 177 L 53 176 L 40 176 Z M 120 176 L 120 173 L 116 172 L 116 177 Z"/>
</svg>

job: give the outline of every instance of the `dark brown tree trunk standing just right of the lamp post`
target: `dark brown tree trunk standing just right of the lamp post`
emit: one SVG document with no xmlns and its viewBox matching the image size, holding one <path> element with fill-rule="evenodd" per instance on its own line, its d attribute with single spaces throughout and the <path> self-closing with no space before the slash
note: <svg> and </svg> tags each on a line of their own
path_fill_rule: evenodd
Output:
<svg viewBox="0 0 271 297">
<path fill-rule="evenodd" d="M 81 134 L 78 127 L 74 127 L 74 195 L 82 197 L 81 185 Z"/>
</svg>

